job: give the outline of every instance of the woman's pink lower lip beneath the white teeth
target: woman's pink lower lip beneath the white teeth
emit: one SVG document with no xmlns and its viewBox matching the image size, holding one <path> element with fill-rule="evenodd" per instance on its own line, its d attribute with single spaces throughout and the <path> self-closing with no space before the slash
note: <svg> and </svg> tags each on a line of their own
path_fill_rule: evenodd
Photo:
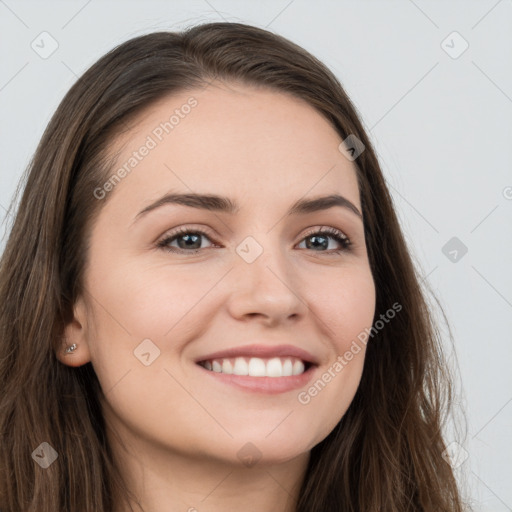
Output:
<svg viewBox="0 0 512 512">
<path fill-rule="evenodd" d="M 233 375 L 227 373 L 214 372 L 197 365 L 200 370 L 209 374 L 212 378 L 232 384 L 244 391 L 252 391 L 255 393 L 266 393 L 276 395 L 278 393 L 286 393 L 307 385 L 313 378 L 313 374 L 317 366 L 311 366 L 300 375 L 290 375 L 289 377 L 250 377 L 248 375 Z"/>
</svg>

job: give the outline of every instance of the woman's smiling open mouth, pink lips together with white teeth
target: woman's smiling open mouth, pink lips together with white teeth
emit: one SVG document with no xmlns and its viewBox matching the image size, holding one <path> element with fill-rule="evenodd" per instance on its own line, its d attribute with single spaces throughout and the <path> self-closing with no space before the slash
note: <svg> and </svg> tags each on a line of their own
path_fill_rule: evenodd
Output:
<svg viewBox="0 0 512 512">
<path fill-rule="evenodd" d="M 290 345 L 251 345 L 210 354 L 196 365 L 216 381 L 245 391 L 283 393 L 305 386 L 318 362 Z"/>
</svg>

